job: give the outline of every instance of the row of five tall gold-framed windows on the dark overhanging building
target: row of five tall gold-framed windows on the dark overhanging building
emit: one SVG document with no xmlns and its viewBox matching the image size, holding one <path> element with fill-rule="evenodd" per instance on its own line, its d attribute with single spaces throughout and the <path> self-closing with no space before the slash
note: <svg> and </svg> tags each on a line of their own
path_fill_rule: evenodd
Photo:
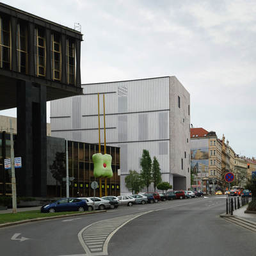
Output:
<svg viewBox="0 0 256 256">
<path fill-rule="evenodd" d="M 34 31 L 35 74 L 46 75 L 46 44 L 45 30 L 35 28 Z M 22 22 L 17 24 L 17 63 L 18 72 L 28 74 L 28 26 Z M 67 83 L 76 83 L 76 49 L 72 40 L 67 39 L 66 63 Z M 54 81 L 61 81 L 61 40 L 60 35 L 51 35 L 51 77 Z M 12 30 L 10 20 L 0 17 L 0 67 L 12 70 Z"/>
</svg>

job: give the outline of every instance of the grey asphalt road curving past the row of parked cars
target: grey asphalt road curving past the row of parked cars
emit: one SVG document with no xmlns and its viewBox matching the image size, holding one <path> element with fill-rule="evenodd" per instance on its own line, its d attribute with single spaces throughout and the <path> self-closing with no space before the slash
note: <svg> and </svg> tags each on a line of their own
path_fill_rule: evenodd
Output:
<svg viewBox="0 0 256 256">
<path fill-rule="evenodd" d="M 255 255 L 256 233 L 220 218 L 225 197 L 118 207 L 0 229 L 4 256 Z"/>
</svg>

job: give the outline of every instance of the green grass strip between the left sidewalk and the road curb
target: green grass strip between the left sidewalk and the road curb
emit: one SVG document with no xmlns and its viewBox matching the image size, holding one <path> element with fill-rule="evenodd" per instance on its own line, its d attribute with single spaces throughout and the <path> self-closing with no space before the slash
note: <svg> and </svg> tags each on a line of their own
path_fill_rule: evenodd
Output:
<svg viewBox="0 0 256 256">
<path fill-rule="evenodd" d="M 74 214 L 76 212 L 41 212 L 40 210 L 36 211 L 26 211 L 26 212 L 17 212 L 15 214 L 13 213 L 2 213 L 0 214 L 0 224 L 4 223 L 10 223 L 15 221 L 21 221 L 21 220 L 31 220 L 36 218 L 45 218 L 45 217 L 51 217 L 51 216 L 60 216 L 60 215 L 69 215 Z"/>
</svg>

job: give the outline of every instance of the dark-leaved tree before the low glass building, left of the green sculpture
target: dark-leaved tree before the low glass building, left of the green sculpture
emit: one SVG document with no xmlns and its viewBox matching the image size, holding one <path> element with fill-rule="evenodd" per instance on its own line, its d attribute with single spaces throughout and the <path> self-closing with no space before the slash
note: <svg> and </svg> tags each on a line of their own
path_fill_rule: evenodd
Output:
<svg viewBox="0 0 256 256">
<path fill-rule="evenodd" d="M 52 177 L 54 177 L 54 179 L 56 179 L 56 188 L 58 186 L 58 182 L 61 185 L 61 189 L 63 186 L 63 177 L 66 177 L 66 156 L 64 152 L 56 152 L 55 155 L 55 160 L 53 161 L 53 163 L 49 166 L 51 173 L 52 173 Z M 61 196 L 61 191 L 60 191 L 60 196 Z"/>
</svg>

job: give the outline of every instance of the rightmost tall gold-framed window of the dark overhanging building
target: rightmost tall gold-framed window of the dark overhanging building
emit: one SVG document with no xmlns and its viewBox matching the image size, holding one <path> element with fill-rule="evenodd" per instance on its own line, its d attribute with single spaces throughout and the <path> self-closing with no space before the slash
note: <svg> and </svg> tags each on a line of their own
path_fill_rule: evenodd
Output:
<svg viewBox="0 0 256 256">
<path fill-rule="evenodd" d="M 67 40 L 67 83 L 75 84 L 75 44 L 71 40 Z"/>
</svg>

